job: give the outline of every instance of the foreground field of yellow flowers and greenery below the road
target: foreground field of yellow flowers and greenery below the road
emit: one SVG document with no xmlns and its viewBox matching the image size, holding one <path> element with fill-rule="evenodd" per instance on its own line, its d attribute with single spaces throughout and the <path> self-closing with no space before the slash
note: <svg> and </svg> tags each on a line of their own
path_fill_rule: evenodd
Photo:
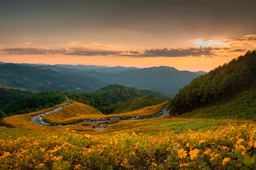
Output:
<svg viewBox="0 0 256 170">
<path fill-rule="evenodd" d="M 126 123 L 130 123 L 130 128 L 121 126 Z M 256 166 L 253 121 L 162 117 L 120 121 L 116 132 L 108 127 L 105 132 L 91 134 L 78 133 L 70 127 L 62 133 L 0 127 L 1 169 L 254 169 Z M 149 131 L 150 128 L 156 131 Z"/>
</svg>

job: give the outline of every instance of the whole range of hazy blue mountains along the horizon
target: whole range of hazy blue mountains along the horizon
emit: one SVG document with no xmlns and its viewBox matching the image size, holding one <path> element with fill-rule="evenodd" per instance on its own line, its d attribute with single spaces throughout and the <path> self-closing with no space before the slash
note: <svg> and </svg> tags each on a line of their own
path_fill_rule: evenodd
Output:
<svg viewBox="0 0 256 170">
<path fill-rule="evenodd" d="M 67 68 L 65 68 L 67 67 Z M 173 97 L 180 88 L 206 72 L 179 71 L 174 67 L 150 68 L 84 65 L 0 63 L 0 84 L 36 91 L 92 92 L 109 84 L 161 91 Z"/>
</svg>

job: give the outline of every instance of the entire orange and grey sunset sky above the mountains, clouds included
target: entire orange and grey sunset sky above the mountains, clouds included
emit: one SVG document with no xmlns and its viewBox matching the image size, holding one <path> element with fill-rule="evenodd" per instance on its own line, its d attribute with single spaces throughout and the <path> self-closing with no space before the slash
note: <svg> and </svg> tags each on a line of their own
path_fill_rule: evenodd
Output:
<svg viewBox="0 0 256 170">
<path fill-rule="evenodd" d="M 1 0 L 0 61 L 210 71 L 256 48 L 256 1 Z"/>
</svg>

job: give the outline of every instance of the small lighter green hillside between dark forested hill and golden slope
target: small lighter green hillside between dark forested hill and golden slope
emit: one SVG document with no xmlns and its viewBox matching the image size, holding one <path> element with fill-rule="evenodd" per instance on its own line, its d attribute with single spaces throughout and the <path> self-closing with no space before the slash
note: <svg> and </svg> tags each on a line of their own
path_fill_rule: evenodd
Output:
<svg viewBox="0 0 256 170">
<path fill-rule="evenodd" d="M 139 108 L 161 104 L 165 101 L 166 100 L 159 97 L 154 97 L 153 95 L 135 97 L 125 102 L 120 102 L 114 105 L 112 114 L 130 112 Z"/>
</svg>

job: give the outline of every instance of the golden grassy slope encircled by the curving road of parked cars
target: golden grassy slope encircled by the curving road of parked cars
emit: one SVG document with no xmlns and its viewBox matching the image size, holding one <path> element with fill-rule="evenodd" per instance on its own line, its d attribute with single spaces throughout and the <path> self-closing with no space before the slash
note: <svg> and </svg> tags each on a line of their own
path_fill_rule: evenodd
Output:
<svg viewBox="0 0 256 170">
<path fill-rule="evenodd" d="M 132 112 L 127 112 L 123 114 L 111 114 L 111 115 L 103 115 L 102 113 L 95 112 L 94 114 L 86 114 L 86 110 L 84 112 L 81 112 L 79 107 L 80 106 L 86 106 L 81 103 L 75 102 L 74 104 L 67 106 L 67 108 L 62 109 L 61 111 L 55 112 L 54 114 L 49 114 L 47 116 L 43 117 L 43 120 L 47 123 L 52 123 L 52 124 L 71 124 L 73 122 L 78 122 L 80 120 L 89 120 L 89 119 L 97 119 L 97 118 L 115 118 L 115 117 L 137 117 L 137 116 L 151 116 L 156 113 L 159 113 L 163 106 L 167 104 L 167 102 L 164 102 L 162 104 L 158 104 L 155 106 L 150 106 L 150 107 L 144 107 L 141 109 L 138 109 L 136 111 Z M 91 109 L 92 107 L 84 107 L 87 109 Z M 94 109 L 94 108 L 92 108 Z M 95 109 L 96 110 L 96 109 Z"/>
</svg>

